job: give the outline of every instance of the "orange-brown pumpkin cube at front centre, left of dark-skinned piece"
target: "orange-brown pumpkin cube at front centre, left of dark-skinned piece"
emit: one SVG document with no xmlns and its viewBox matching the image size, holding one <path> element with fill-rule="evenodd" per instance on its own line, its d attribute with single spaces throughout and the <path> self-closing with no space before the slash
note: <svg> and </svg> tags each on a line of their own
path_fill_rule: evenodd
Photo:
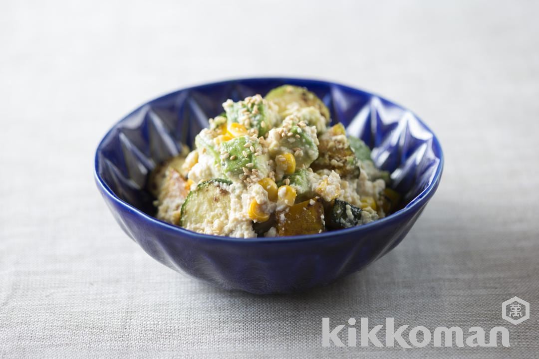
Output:
<svg viewBox="0 0 539 359">
<path fill-rule="evenodd" d="M 324 207 L 320 198 L 297 203 L 275 213 L 277 235 L 299 236 L 324 231 Z"/>
</svg>

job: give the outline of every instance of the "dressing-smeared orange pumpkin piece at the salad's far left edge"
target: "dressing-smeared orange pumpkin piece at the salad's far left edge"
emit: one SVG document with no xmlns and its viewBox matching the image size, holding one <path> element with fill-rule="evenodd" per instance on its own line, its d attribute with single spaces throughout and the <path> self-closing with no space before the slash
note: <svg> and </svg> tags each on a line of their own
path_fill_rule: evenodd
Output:
<svg viewBox="0 0 539 359">
<path fill-rule="evenodd" d="M 157 219 L 179 224 L 181 208 L 188 197 L 191 183 L 169 166 L 157 198 Z"/>
</svg>

